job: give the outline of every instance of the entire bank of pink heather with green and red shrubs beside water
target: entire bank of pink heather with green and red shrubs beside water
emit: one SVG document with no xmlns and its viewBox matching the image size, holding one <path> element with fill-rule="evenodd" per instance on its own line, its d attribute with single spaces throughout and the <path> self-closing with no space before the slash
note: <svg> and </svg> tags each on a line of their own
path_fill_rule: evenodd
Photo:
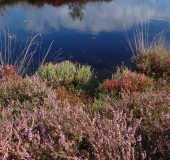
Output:
<svg viewBox="0 0 170 160">
<path fill-rule="evenodd" d="M 132 58 L 136 71 L 121 66 L 100 83 L 69 61 L 32 76 L 1 66 L 0 159 L 169 159 L 169 52 L 145 51 Z M 145 54 L 150 70 L 139 67 Z"/>
</svg>

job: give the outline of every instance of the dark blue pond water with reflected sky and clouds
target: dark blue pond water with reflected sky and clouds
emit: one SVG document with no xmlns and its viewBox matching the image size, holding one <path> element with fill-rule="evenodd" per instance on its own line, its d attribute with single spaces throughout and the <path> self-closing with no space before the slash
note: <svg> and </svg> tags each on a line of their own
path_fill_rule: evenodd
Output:
<svg viewBox="0 0 170 160">
<path fill-rule="evenodd" d="M 54 41 L 47 60 L 69 59 L 89 64 L 106 78 L 116 65 L 129 64 L 132 51 L 125 33 L 135 48 L 136 26 L 142 26 L 147 37 L 146 46 L 156 37 L 154 41 L 164 42 L 169 48 L 169 8 L 168 0 L 65 1 L 65 4 L 62 1 L 13 0 L 0 6 L 0 27 L 9 30 L 9 35 L 17 39 L 14 54 L 22 50 L 23 45 L 19 47 L 18 44 L 40 33 L 42 36 L 36 40 L 42 45 L 34 62 L 39 62 L 39 56 Z M 164 31 L 163 37 L 158 34 L 161 31 Z"/>
</svg>

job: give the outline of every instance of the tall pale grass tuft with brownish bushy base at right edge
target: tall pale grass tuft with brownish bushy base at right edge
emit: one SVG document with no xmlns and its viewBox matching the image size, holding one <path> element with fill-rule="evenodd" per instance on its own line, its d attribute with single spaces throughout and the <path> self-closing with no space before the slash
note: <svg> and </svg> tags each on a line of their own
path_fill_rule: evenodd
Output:
<svg viewBox="0 0 170 160">
<path fill-rule="evenodd" d="M 156 34 L 151 41 L 149 35 L 149 19 L 146 21 L 137 20 L 133 27 L 132 42 L 127 32 L 125 37 L 132 51 L 132 63 L 135 64 L 135 69 L 151 76 L 155 79 L 165 78 L 170 76 L 170 52 L 165 48 L 165 30 Z"/>
</svg>

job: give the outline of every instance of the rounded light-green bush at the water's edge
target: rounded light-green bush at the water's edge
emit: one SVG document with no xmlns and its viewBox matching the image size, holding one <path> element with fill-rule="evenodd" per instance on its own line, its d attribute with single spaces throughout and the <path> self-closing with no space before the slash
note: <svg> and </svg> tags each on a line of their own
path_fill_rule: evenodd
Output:
<svg viewBox="0 0 170 160">
<path fill-rule="evenodd" d="M 76 65 L 69 61 L 56 64 L 47 63 L 39 70 L 44 81 L 53 87 L 84 85 L 92 78 L 90 66 Z"/>
</svg>

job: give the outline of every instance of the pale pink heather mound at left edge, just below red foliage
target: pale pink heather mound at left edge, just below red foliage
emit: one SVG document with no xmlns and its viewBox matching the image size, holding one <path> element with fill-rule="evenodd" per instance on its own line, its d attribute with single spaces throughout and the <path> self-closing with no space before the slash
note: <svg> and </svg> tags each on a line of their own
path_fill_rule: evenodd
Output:
<svg viewBox="0 0 170 160">
<path fill-rule="evenodd" d="M 2 79 L 0 86 L 0 102 L 4 106 L 10 104 L 11 101 L 24 102 L 35 99 L 42 101 L 47 96 L 47 91 L 50 90 L 37 76 Z"/>
</svg>

